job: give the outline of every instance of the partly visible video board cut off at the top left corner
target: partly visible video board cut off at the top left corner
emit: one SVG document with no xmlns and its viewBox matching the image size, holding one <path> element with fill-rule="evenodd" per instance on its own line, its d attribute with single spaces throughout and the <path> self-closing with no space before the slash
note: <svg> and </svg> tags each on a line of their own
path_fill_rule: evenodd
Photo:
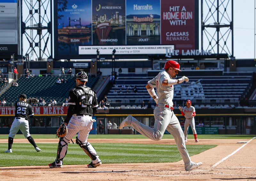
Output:
<svg viewBox="0 0 256 181">
<path fill-rule="evenodd" d="M 18 55 L 17 0 L 0 0 L 0 55 Z"/>
</svg>

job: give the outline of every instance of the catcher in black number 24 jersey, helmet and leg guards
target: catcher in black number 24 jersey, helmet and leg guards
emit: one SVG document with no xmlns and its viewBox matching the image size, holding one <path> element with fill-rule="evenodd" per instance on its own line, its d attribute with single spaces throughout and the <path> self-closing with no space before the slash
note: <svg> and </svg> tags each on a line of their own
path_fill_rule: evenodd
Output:
<svg viewBox="0 0 256 181">
<path fill-rule="evenodd" d="M 96 121 L 92 119 L 92 116 L 97 112 L 97 107 L 99 106 L 96 93 L 85 85 L 88 81 L 88 76 L 85 72 L 78 72 L 74 77 L 74 81 L 76 82 L 76 87 L 69 91 L 68 114 L 64 121 L 64 124 L 68 125 L 68 133 L 65 137 L 60 137 L 57 158 L 54 162 L 48 164 L 50 168 L 62 168 L 62 160 L 67 154 L 68 143 L 77 132 L 76 144 L 92 159 L 92 162 L 87 167 L 95 168 L 101 165 L 96 150 L 87 142 L 92 124 Z"/>
</svg>

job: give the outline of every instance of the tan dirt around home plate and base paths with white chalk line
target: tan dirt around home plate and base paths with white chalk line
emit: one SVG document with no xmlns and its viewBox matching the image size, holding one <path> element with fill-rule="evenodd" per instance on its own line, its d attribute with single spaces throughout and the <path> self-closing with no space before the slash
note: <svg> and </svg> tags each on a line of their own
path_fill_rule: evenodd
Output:
<svg viewBox="0 0 256 181">
<path fill-rule="evenodd" d="M 27 139 L 15 139 L 26 142 Z M 36 143 L 58 143 L 58 139 L 35 139 Z M 151 141 L 149 139 L 88 139 L 91 143 L 140 143 L 175 144 L 173 139 Z M 248 143 L 237 143 L 248 141 Z M 0 143 L 7 143 L 0 139 Z M 218 145 L 198 155 L 194 162 L 203 165 L 192 171 L 184 170 L 183 161 L 174 163 L 124 163 L 102 164 L 89 169 L 86 165 L 64 165 L 62 169 L 48 166 L 1 167 L 0 180 L 256 180 L 256 139 L 253 140 L 207 140 L 189 144 Z"/>
</svg>

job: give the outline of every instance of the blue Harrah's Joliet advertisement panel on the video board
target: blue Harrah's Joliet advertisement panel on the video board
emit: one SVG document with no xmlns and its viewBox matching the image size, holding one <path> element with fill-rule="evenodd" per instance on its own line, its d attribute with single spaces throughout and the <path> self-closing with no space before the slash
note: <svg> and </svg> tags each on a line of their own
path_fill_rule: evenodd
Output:
<svg viewBox="0 0 256 181">
<path fill-rule="evenodd" d="M 126 1 L 126 44 L 160 45 L 160 1 Z"/>
</svg>

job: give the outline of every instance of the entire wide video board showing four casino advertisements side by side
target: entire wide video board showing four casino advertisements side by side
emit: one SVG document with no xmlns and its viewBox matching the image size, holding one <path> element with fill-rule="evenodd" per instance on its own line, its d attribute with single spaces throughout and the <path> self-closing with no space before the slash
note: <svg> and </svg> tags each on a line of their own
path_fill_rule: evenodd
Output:
<svg viewBox="0 0 256 181">
<path fill-rule="evenodd" d="M 55 4 L 56 59 L 94 57 L 97 49 L 101 55 L 116 49 L 123 57 L 198 49 L 198 0 L 56 0 Z"/>
</svg>

